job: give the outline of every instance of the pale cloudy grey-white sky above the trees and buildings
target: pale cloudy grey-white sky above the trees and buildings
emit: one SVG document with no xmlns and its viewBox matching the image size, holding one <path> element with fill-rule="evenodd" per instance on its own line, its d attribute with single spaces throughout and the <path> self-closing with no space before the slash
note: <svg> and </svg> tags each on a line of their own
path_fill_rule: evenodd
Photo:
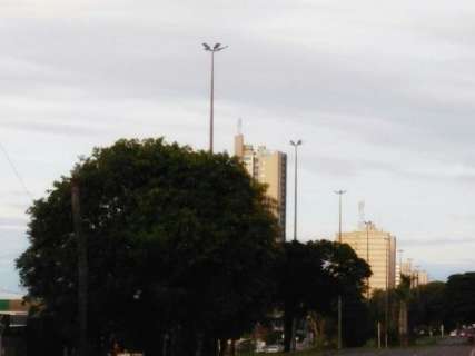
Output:
<svg viewBox="0 0 475 356">
<path fill-rule="evenodd" d="M 299 148 L 298 237 L 365 217 L 433 279 L 475 267 L 475 4 L 398 0 L 0 0 L 0 144 L 41 198 L 119 138 Z M 31 197 L 0 151 L 0 289 L 21 291 Z M 293 229 L 288 197 L 288 235 Z"/>
</svg>

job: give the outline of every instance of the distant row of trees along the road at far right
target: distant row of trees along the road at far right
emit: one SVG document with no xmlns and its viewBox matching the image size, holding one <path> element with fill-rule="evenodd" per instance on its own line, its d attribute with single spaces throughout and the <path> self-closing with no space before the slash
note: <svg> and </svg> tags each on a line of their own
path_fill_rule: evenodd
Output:
<svg viewBox="0 0 475 356">
<path fill-rule="evenodd" d="M 389 343 L 404 345 L 422 335 L 441 335 L 443 330 L 471 326 L 475 323 L 473 300 L 475 273 L 452 275 L 446 283 L 432 281 L 415 288 L 410 288 L 409 277 L 404 277 L 396 289 L 373 295 L 370 323 L 384 324 L 387 308 Z"/>
</svg>

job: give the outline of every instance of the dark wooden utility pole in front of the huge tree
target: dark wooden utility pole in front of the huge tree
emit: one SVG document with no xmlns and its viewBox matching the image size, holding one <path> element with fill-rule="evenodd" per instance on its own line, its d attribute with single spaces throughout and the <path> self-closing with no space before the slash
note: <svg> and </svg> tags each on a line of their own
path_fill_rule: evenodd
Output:
<svg viewBox="0 0 475 356">
<path fill-rule="evenodd" d="M 71 179 L 72 221 L 78 248 L 78 355 L 88 356 L 88 248 L 82 234 L 79 184 Z"/>
</svg>

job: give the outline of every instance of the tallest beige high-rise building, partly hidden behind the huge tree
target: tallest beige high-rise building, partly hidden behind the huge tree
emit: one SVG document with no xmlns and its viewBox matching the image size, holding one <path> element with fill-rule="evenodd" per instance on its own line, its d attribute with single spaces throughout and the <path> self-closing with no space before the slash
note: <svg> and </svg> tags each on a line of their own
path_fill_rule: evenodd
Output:
<svg viewBox="0 0 475 356">
<path fill-rule="evenodd" d="M 267 196 L 274 202 L 274 212 L 279 221 L 279 241 L 285 241 L 287 207 L 287 155 L 270 151 L 265 146 L 254 148 L 245 145 L 241 134 L 235 137 L 235 155 L 257 181 L 267 186 Z"/>
</svg>

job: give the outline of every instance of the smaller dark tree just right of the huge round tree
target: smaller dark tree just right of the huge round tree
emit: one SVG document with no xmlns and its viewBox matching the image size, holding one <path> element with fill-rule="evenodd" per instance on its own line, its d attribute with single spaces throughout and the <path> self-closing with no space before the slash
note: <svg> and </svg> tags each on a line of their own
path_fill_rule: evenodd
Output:
<svg viewBox="0 0 475 356">
<path fill-rule="evenodd" d="M 357 315 L 365 313 L 362 293 L 370 269 L 348 245 L 327 240 L 284 245 L 279 260 L 277 300 L 284 310 L 284 346 L 290 350 L 297 319 L 308 312 L 334 316 L 338 296 L 345 300 L 349 344 L 362 338 L 352 332 Z M 364 338 L 364 337 L 363 337 Z"/>
</svg>

